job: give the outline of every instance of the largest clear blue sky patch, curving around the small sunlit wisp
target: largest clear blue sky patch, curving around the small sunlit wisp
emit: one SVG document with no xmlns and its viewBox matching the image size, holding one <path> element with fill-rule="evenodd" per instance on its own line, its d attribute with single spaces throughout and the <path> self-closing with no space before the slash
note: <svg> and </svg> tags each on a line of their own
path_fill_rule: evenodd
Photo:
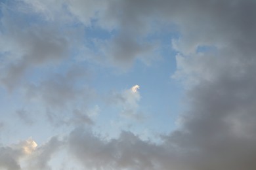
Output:
<svg viewBox="0 0 256 170">
<path fill-rule="evenodd" d="M 138 122 L 133 122 L 135 129 L 141 131 L 141 127 L 144 126 L 152 131 L 169 133 L 175 129 L 182 93 L 179 82 L 170 78 L 176 69 L 175 62 L 175 53 L 163 50 L 162 58 L 152 63 L 150 67 L 141 61 L 136 61 L 128 73 L 115 74 L 111 69 L 108 71 L 98 69 L 93 86 L 100 93 L 108 93 L 111 90 L 122 92 L 139 84 L 141 96 L 139 106 L 148 119 L 139 125 Z M 117 110 L 104 109 L 104 113 L 102 112 L 98 119 L 101 126 L 104 126 L 111 120 L 118 122 L 120 116 L 117 115 Z"/>
</svg>

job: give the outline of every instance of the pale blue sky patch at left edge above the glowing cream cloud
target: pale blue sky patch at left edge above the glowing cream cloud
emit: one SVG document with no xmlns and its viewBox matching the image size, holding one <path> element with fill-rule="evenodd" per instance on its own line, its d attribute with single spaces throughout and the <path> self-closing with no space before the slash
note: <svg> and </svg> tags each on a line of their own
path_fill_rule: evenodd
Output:
<svg viewBox="0 0 256 170">
<path fill-rule="evenodd" d="M 19 141 L 20 139 L 28 139 L 28 137 L 30 136 L 38 135 L 38 131 L 35 131 L 35 129 L 38 127 L 43 128 L 43 125 L 35 126 L 33 128 L 31 128 L 30 126 L 24 126 L 24 124 L 16 114 L 17 110 L 26 111 L 26 101 L 22 99 L 20 93 L 17 93 L 17 92 L 8 93 L 5 90 L 1 90 L 0 94 L 2 96 L 0 98 L 1 121 L 3 121 L 4 128 L 5 128 L 5 131 L 1 133 L 3 137 L 2 138 L 0 137 L 0 143 L 3 143 L 3 144 L 14 143 Z M 28 107 L 30 107 L 30 111 L 35 109 L 33 105 L 28 105 Z M 35 117 L 41 118 L 41 116 L 39 115 L 41 114 L 39 114 L 38 111 L 32 112 L 32 116 L 34 118 Z M 40 122 L 39 124 L 41 123 L 42 122 Z M 47 135 L 48 133 L 45 133 L 45 135 L 41 134 L 41 136 L 44 136 L 44 137 L 47 137 Z M 43 140 L 44 139 L 42 138 L 42 141 Z"/>
</svg>

